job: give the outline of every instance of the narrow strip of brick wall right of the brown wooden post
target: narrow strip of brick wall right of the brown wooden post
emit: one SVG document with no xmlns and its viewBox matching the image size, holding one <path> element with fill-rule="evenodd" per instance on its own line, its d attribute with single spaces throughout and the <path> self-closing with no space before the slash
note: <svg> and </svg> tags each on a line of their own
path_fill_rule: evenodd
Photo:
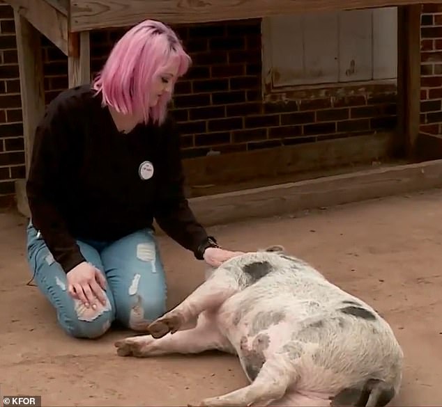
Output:
<svg viewBox="0 0 442 407">
<path fill-rule="evenodd" d="M 420 130 L 442 134 L 442 5 L 422 7 L 421 27 Z"/>
</svg>

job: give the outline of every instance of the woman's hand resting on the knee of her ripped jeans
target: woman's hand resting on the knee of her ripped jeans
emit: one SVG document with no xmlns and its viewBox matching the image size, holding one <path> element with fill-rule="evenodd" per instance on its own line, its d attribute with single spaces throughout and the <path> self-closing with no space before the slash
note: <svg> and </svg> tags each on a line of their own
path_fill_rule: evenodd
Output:
<svg viewBox="0 0 442 407">
<path fill-rule="evenodd" d="M 88 262 L 82 262 L 70 270 L 68 278 L 68 292 L 77 298 L 86 308 L 96 309 L 96 301 L 106 304 L 105 287 L 106 279 L 96 267 Z"/>
</svg>

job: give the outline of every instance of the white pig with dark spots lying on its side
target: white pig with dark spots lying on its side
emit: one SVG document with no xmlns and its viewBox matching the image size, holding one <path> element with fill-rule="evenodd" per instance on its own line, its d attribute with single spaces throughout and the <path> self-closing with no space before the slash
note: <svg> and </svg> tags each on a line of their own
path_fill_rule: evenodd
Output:
<svg viewBox="0 0 442 407">
<path fill-rule="evenodd" d="M 238 356 L 250 385 L 200 406 L 386 406 L 402 381 L 388 323 L 281 246 L 224 262 L 148 332 L 117 341 L 117 353 Z"/>
</svg>

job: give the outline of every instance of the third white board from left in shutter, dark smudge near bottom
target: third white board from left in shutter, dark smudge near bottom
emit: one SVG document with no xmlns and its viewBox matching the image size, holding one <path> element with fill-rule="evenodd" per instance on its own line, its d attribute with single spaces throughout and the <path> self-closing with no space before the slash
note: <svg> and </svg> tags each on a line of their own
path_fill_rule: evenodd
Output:
<svg viewBox="0 0 442 407">
<path fill-rule="evenodd" d="M 339 15 L 340 82 L 372 79 L 372 10 Z"/>
</svg>

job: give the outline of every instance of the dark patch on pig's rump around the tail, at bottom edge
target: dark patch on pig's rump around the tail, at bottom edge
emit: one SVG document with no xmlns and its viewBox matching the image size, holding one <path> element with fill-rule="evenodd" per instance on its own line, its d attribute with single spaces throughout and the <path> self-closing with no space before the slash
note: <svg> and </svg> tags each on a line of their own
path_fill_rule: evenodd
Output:
<svg viewBox="0 0 442 407">
<path fill-rule="evenodd" d="M 385 381 L 370 378 L 363 385 L 345 388 L 330 397 L 330 406 L 385 407 L 395 397 L 395 389 Z"/>
</svg>

